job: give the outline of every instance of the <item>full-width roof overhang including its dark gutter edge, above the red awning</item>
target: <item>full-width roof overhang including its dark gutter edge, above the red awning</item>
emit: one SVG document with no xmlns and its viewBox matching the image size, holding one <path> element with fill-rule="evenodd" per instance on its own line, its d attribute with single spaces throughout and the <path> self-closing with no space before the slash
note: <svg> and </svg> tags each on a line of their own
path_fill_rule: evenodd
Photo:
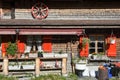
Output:
<svg viewBox="0 0 120 80">
<path fill-rule="evenodd" d="M 0 28 L 120 28 L 120 20 L 2 19 Z"/>
</svg>

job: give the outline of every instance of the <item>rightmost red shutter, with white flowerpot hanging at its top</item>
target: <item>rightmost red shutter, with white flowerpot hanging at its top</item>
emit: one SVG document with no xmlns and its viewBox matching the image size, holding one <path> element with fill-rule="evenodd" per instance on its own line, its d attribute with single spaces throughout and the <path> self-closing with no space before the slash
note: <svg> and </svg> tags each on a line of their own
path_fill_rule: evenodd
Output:
<svg viewBox="0 0 120 80">
<path fill-rule="evenodd" d="M 116 56 L 116 37 L 114 36 L 115 43 L 110 43 L 110 37 L 107 38 L 107 56 L 115 57 Z"/>
</svg>

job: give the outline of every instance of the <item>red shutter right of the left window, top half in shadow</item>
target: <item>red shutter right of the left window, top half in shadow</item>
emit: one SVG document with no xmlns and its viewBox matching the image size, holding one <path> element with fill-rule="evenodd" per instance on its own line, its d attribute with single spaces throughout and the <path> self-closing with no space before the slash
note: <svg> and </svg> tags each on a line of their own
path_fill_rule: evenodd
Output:
<svg viewBox="0 0 120 80">
<path fill-rule="evenodd" d="M 52 36 L 43 36 L 42 49 L 44 52 L 52 52 Z"/>
</svg>

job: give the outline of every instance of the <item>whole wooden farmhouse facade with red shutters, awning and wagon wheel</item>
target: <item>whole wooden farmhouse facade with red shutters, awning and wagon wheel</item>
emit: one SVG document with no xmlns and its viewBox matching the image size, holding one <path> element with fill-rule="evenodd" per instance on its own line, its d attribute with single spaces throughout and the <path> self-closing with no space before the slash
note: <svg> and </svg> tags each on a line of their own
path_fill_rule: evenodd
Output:
<svg viewBox="0 0 120 80">
<path fill-rule="evenodd" d="M 19 40 L 19 52 L 104 53 L 120 59 L 118 0 L 0 0 L 1 54 Z M 83 38 L 90 44 L 82 49 Z M 114 41 L 111 42 L 111 39 Z"/>
</svg>

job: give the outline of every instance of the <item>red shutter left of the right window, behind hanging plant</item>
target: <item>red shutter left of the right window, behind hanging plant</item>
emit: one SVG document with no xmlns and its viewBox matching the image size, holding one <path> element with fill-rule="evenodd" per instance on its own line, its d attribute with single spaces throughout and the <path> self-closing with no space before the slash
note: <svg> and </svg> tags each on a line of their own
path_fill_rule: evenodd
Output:
<svg viewBox="0 0 120 80">
<path fill-rule="evenodd" d="M 82 38 L 80 36 L 80 46 L 82 45 Z M 89 43 L 86 44 L 85 48 L 82 48 L 80 49 L 80 56 L 81 57 L 88 57 L 88 54 L 89 54 Z"/>
</svg>

